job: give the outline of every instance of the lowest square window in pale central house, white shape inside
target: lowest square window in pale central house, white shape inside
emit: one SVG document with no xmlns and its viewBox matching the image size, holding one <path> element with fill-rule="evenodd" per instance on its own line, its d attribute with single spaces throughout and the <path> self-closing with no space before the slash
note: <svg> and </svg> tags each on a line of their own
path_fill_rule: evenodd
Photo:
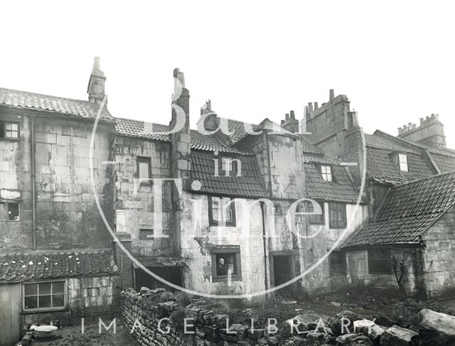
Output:
<svg viewBox="0 0 455 346">
<path fill-rule="evenodd" d="M 210 250 L 210 254 L 212 256 L 213 282 L 242 281 L 240 246 L 214 247 Z"/>
</svg>

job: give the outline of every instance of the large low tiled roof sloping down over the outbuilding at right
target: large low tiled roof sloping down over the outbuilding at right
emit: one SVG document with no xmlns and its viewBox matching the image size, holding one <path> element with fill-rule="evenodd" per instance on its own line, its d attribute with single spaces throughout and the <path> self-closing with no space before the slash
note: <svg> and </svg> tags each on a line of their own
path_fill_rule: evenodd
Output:
<svg viewBox="0 0 455 346">
<path fill-rule="evenodd" d="M 455 205 L 455 172 L 397 185 L 375 219 L 361 226 L 343 247 L 419 244 L 420 236 Z"/>
</svg>

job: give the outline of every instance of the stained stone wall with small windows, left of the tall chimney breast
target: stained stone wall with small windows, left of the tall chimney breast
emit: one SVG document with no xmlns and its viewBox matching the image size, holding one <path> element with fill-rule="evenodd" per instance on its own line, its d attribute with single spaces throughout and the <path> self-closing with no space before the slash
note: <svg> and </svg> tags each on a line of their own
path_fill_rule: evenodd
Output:
<svg viewBox="0 0 455 346">
<path fill-rule="evenodd" d="M 137 157 L 151 158 L 151 178 L 171 178 L 171 146 L 166 142 L 117 136 L 112 159 L 116 209 L 125 210 L 132 252 L 139 256 L 164 256 L 173 252 L 172 182 L 163 182 L 161 206 L 154 205 L 154 187 L 139 186 Z M 154 222 L 169 238 L 139 239 L 139 229 L 154 229 Z M 154 232 L 157 230 L 154 229 Z"/>
</svg>

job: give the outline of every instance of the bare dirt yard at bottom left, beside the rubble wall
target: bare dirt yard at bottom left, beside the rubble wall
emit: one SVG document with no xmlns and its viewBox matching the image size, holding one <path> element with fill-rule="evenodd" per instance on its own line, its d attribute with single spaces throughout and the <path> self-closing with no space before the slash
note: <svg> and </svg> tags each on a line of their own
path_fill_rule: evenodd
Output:
<svg viewBox="0 0 455 346">
<path fill-rule="evenodd" d="M 107 323 L 107 322 L 105 322 Z M 99 333 L 98 325 L 85 325 L 85 331 L 81 333 L 80 325 L 64 327 L 58 330 L 58 335 L 53 340 L 35 340 L 35 346 L 139 346 L 129 334 L 129 330 L 122 321 L 117 318 L 116 333 L 102 329 Z"/>
</svg>

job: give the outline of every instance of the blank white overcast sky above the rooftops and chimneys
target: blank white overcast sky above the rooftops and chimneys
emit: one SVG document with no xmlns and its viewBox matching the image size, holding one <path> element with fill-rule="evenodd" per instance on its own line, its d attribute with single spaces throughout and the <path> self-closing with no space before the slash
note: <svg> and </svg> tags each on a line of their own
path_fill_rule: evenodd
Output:
<svg viewBox="0 0 455 346">
<path fill-rule="evenodd" d="M 222 117 L 279 122 L 333 88 L 367 133 L 438 113 L 455 148 L 449 1 L 93 2 L 2 3 L 0 86 L 86 99 L 100 56 L 118 117 L 167 124 L 180 67 L 193 127 L 206 99 Z"/>
</svg>

